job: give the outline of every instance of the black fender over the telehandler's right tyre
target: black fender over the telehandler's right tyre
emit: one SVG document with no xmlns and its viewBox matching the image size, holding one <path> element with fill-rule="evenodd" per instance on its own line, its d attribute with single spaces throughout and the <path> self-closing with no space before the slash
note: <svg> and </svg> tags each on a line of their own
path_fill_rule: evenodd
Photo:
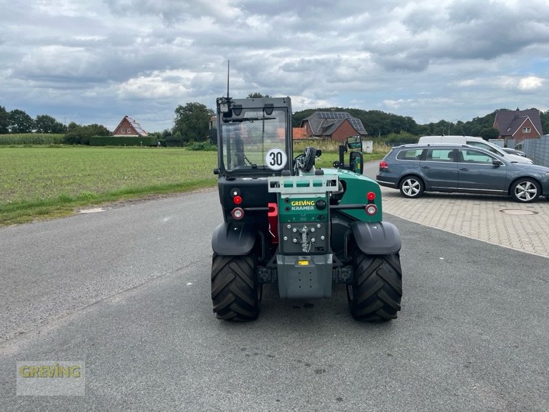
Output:
<svg viewBox="0 0 549 412">
<path fill-rule="evenodd" d="M 389 222 L 351 222 L 358 249 L 365 255 L 390 255 L 402 246 L 399 229 Z"/>
</svg>

